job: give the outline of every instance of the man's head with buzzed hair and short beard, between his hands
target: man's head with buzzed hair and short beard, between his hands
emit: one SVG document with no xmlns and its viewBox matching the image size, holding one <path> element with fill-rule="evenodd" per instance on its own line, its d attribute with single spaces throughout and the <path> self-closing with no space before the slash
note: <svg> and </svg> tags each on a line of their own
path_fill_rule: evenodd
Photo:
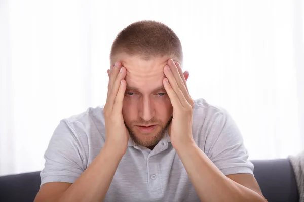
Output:
<svg viewBox="0 0 304 202">
<path fill-rule="evenodd" d="M 173 108 L 163 86 L 163 69 L 170 58 L 182 63 L 181 43 L 169 27 L 155 21 L 129 25 L 112 44 L 111 65 L 120 61 L 127 70 L 125 125 L 139 145 L 156 145 L 172 120 Z"/>
</svg>

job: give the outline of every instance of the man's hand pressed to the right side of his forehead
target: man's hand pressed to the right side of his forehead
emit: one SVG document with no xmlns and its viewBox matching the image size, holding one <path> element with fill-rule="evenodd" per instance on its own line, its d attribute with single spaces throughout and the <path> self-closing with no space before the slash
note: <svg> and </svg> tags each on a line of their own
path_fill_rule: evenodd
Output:
<svg viewBox="0 0 304 202">
<path fill-rule="evenodd" d="M 192 136 L 192 116 L 194 102 L 186 85 L 189 73 L 181 70 L 179 63 L 169 59 L 164 67 L 166 78 L 163 84 L 173 106 L 173 119 L 169 126 L 169 135 L 173 147 L 178 150 L 195 144 Z"/>
</svg>

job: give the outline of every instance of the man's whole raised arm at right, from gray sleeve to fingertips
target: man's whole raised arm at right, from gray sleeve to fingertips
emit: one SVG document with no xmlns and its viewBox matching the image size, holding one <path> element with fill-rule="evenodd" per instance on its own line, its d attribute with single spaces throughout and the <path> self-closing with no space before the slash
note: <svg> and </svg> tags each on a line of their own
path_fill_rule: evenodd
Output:
<svg viewBox="0 0 304 202">
<path fill-rule="evenodd" d="M 211 141 L 213 145 L 207 151 L 212 158 L 211 161 L 196 145 L 192 136 L 194 102 L 186 86 L 188 72 L 182 73 L 179 64 L 170 59 L 164 67 L 164 73 L 166 78 L 163 84 L 173 106 L 173 119 L 169 127 L 171 143 L 200 200 L 266 201 L 256 180 L 250 174 L 236 174 L 229 177 L 224 174 L 249 172 L 248 156 L 235 124 L 220 113 L 215 114 L 215 119 L 210 121 L 213 127 L 211 126 L 212 132 L 208 135 L 213 140 Z M 238 170 L 234 170 L 235 168 Z"/>
</svg>

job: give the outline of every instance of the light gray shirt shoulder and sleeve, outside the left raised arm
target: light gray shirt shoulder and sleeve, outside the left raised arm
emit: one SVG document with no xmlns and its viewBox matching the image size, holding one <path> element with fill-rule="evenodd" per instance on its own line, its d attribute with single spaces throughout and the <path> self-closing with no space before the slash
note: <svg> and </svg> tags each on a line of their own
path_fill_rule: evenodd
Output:
<svg viewBox="0 0 304 202">
<path fill-rule="evenodd" d="M 87 111 L 62 119 L 55 129 L 45 151 L 45 167 L 41 184 L 47 182 L 73 183 L 93 161 L 104 142 L 103 108 Z"/>
</svg>

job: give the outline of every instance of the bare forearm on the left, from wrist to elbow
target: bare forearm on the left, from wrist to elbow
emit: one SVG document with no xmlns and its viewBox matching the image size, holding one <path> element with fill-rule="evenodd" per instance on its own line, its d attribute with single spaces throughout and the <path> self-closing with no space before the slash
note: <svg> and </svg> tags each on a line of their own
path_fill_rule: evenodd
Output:
<svg viewBox="0 0 304 202">
<path fill-rule="evenodd" d="M 103 201 L 122 156 L 115 148 L 105 145 L 58 201 Z"/>
</svg>

